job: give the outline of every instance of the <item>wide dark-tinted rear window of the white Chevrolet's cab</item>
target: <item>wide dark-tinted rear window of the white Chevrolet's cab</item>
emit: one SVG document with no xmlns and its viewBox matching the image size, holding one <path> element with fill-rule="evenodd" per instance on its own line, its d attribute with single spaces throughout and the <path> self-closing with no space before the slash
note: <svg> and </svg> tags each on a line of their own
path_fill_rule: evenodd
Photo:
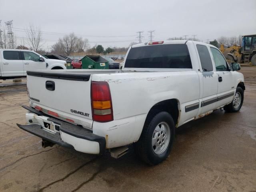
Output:
<svg viewBox="0 0 256 192">
<path fill-rule="evenodd" d="M 131 48 L 126 68 L 192 68 L 186 44 L 149 45 Z"/>
</svg>

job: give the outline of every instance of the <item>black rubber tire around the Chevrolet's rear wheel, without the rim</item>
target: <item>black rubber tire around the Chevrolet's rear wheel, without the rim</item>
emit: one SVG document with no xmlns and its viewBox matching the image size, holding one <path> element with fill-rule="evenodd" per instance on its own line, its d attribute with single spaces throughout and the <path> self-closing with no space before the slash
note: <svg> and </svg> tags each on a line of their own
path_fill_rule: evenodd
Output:
<svg viewBox="0 0 256 192">
<path fill-rule="evenodd" d="M 152 146 L 152 137 L 155 128 L 160 123 L 166 123 L 170 128 L 170 139 L 165 150 L 161 154 L 154 152 L 154 146 Z M 166 134 L 167 135 L 167 134 Z M 159 134 L 158 134 L 159 136 Z M 172 116 L 168 112 L 153 111 L 148 115 L 144 124 L 140 139 L 134 143 L 134 150 L 140 159 L 149 165 L 156 165 L 164 161 L 170 154 L 175 137 L 175 124 Z M 164 145 L 162 145 L 164 146 Z M 162 146 L 160 148 L 162 148 Z"/>
</svg>

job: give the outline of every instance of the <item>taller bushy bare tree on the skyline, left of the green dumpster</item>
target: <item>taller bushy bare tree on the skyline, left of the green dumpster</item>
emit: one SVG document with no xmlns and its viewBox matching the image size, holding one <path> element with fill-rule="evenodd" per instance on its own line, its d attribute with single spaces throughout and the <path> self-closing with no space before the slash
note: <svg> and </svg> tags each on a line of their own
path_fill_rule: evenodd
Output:
<svg viewBox="0 0 256 192">
<path fill-rule="evenodd" d="M 62 39 L 59 39 L 58 42 L 64 53 L 69 56 L 71 52 L 74 52 L 77 40 L 77 36 L 74 33 L 71 33 L 65 35 Z"/>
</svg>

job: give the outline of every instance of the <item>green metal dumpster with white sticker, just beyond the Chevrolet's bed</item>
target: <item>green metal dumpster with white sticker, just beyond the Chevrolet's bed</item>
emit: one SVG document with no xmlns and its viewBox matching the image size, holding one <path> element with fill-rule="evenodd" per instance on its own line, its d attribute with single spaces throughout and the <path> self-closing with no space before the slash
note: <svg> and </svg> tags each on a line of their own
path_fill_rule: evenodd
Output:
<svg viewBox="0 0 256 192">
<path fill-rule="evenodd" d="M 108 61 L 99 55 L 86 55 L 80 61 L 82 69 L 109 69 Z"/>
</svg>

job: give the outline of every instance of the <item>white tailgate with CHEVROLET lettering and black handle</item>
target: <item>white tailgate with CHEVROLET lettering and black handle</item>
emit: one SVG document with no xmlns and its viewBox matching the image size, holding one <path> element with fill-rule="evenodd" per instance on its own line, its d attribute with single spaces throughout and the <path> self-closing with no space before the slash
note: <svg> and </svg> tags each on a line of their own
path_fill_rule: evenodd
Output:
<svg viewBox="0 0 256 192">
<path fill-rule="evenodd" d="M 38 106 L 46 114 L 92 128 L 90 74 L 28 71 L 27 87 L 32 107 Z"/>
</svg>

